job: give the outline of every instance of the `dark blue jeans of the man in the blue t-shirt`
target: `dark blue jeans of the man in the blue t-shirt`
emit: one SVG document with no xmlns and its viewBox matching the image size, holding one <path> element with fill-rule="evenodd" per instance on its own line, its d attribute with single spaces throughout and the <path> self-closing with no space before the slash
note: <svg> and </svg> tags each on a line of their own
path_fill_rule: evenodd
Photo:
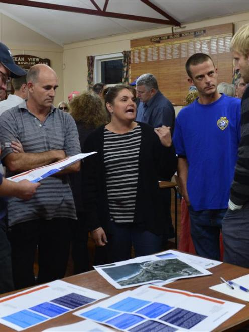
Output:
<svg viewBox="0 0 249 332">
<path fill-rule="evenodd" d="M 226 209 L 194 211 L 189 206 L 191 236 L 196 253 L 220 260 L 219 238 Z"/>
</svg>

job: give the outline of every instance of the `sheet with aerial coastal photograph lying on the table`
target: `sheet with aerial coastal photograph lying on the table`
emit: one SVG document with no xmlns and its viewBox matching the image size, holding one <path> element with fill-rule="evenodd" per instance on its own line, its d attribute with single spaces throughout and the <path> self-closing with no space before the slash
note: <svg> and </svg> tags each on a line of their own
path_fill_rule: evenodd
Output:
<svg viewBox="0 0 249 332">
<path fill-rule="evenodd" d="M 158 256 L 160 255 L 160 256 Z M 171 282 L 176 279 L 193 278 L 212 274 L 210 271 L 186 262 L 174 254 L 136 257 L 127 261 L 94 266 L 111 285 L 117 289 L 154 282 Z"/>
</svg>

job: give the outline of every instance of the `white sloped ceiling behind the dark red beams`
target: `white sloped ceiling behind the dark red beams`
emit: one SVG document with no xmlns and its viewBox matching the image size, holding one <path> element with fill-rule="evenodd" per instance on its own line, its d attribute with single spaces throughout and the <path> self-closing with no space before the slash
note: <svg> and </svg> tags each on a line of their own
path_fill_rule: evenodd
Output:
<svg viewBox="0 0 249 332">
<path fill-rule="evenodd" d="M 40 33 L 51 41 L 65 45 L 92 38 L 131 33 L 145 29 L 163 27 L 163 24 L 102 17 L 89 14 L 67 12 L 8 4 L 1 2 L 0 12 L 28 28 Z M 15 1 L 14 1 L 15 2 Z M 16 3 L 36 3 L 37 0 L 19 0 Z M 96 10 L 95 4 L 103 10 L 127 15 L 143 16 L 150 19 L 168 20 L 160 10 L 184 25 L 218 16 L 249 11 L 248 0 L 150 0 L 159 12 L 146 4 L 146 0 L 43 0 L 42 3 Z M 152 20 L 151 20 L 152 21 Z M 172 24 L 171 24 L 172 25 Z M 167 26 L 167 25 L 166 25 Z"/>
</svg>

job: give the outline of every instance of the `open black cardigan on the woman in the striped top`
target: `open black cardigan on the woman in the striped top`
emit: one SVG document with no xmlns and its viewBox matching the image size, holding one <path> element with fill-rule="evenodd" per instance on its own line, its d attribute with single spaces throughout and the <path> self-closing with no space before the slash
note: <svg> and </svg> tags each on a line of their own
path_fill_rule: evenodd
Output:
<svg viewBox="0 0 249 332">
<path fill-rule="evenodd" d="M 134 223 L 154 234 L 162 234 L 166 216 L 159 192 L 159 178 L 171 178 L 176 171 L 177 158 L 172 147 L 165 148 L 154 129 L 144 123 L 141 126 L 139 152 L 139 176 Z M 84 153 L 97 151 L 83 164 L 83 206 L 90 230 L 102 226 L 111 233 L 104 167 L 104 126 L 94 130 L 86 139 Z"/>
</svg>

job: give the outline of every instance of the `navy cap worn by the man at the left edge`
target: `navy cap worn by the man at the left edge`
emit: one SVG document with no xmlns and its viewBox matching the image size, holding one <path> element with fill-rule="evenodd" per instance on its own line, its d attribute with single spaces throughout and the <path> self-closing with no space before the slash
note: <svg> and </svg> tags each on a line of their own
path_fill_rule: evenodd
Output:
<svg viewBox="0 0 249 332">
<path fill-rule="evenodd" d="M 10 70 L 10 76 L 12 78 L 18 78 L 20 76 L 27 75 L 26 71 L 24 71 L 21 67 L 15 64 L 11 51 L 8 47 L 0 43 L 0 62 Z"/>
</svg>

